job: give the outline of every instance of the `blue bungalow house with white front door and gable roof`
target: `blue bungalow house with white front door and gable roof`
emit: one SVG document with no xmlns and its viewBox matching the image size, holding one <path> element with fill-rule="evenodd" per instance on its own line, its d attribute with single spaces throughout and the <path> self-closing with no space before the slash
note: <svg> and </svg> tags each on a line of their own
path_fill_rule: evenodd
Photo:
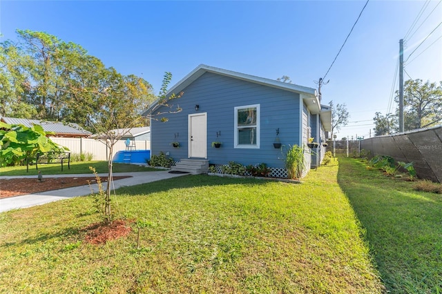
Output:
<svg viewBox="0 0 442 294">
<path fill-rule="evenodd" d="M 320 164 L 331 109 L 320 104 L 315 89 L 200 65 L 168 95 L 180 92 L 182 97 L 171 104 L 181 112 L 167 113 L 161 106 L 157 111 L 166 113 L 167 121 L 151 120 L 151 154 L 169 155 L 177 170 L 199 161 L 202 170 L 187 167 L 204 173 L 208 164 L 236 161 L 244 166 L 265 163 L 273 176 L 284 177 L 285 152 L 294 144 L 305 147 L 307 170 Z M 307 147 L 309 138 L 318 148 Z M 220 142 L 220 148 L 213 148 L 213 142 Z M 273 146 L 278 142 L 282 147 Z"/>
</svg>

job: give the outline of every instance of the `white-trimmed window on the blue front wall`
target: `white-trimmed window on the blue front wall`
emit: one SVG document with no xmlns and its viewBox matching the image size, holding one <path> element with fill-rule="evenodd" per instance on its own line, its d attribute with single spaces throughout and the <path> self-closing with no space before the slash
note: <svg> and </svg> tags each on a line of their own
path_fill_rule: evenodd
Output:
<svg viewBox="0 0 442 294">
<path fill-rule="evenodd" d="M 235 108 L 235 148 L 260 148 L 260 104 Z"/>
</svg>

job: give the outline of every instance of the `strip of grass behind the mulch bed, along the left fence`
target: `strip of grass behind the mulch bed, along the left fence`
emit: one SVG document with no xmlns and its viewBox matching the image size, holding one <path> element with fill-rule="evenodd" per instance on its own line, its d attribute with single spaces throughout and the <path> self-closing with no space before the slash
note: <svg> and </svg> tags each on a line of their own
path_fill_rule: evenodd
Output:
<svg viewBox="0 0 442 294">
<path fill-rule="evenodd" d="M 68 164 L 63 164 L 63 171 L 61 171 L 61 164 L 39 164 L 39 169 L 44 175 L 72 175 L 79 173 L 92 173 L 89 166 L 96 168 L 97 173 L 108 173 L 107 161 L 79 161 L 71 162 L 70 169 Z M 29 166 L 29 171 L 26 172 L 26 166 L 7 166 L 0 168 L 0 175 L 37 175 L 38 170 L 35 166 Z M 152 171 L 157 170 L 146 166 L 138 166 L 136 164 L 113 164 L 114 173 L 138 172 L 138 171 Z"/>
</svg>

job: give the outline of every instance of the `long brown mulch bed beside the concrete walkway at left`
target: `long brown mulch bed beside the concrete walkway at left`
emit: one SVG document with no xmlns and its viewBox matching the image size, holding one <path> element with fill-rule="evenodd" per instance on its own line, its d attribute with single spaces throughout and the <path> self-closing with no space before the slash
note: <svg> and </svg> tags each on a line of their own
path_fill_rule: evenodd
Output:
<svg viewBox="0 0 442 294">
<path fill-rule="evenodd" d="M 118 179 L 126 179 L 131 176 L 113 177 L 114 181 Z M 102 177 L 102 183 L 107 182 L 107 177 Z M 58 190 L 63 188 L 84 186 L 88 184 L 96 184 L 95 177 L 44 177 L 43 182 L 35 179 L 0 179 L 0 199 L 18 195 L 33 194 L 46 192 L 50 190 Z M 104 186 L 103 188 L 106 188 Z"/>
</svg>

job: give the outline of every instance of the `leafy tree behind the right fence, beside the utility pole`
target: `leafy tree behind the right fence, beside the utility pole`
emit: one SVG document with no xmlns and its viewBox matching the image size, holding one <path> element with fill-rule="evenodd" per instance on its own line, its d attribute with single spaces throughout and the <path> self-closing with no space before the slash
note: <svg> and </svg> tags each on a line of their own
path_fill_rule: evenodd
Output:
<svg viewBox="0 0 442 294">
<path fill-rule="evenodd" d="M 404 129 L 427 128 L 442 122 L 442 81 L 439 85 L 421 79 L 405 81 Z M 398 101 L 398 92 L 396 92 Z"/>
</svg>

